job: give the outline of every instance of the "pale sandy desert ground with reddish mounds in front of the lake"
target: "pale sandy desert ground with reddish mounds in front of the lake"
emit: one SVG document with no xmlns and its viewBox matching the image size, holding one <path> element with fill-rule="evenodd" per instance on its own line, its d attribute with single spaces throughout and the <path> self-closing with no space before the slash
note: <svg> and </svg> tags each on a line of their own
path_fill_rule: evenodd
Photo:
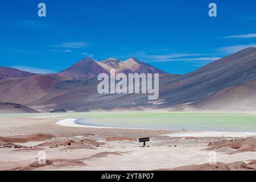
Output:
<svg viewBox="0 0 256 182">
<path fill-rule="evenodd" d="M 2 114 L 0 170 L 256 169 L 255 136 L 67 127 L 57 125 L 59 121 Z M 138 142 L 143 137 L 150 137 L 148 147 Z"/>
</svg>

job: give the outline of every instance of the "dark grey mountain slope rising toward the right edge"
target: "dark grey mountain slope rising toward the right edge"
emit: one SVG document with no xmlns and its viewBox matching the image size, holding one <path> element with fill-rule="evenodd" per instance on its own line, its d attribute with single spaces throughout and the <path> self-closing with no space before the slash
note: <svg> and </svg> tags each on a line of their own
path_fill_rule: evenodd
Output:
<svg viewBox="0 0 256 182">
<path fill-rule="evenodd" d="M 256 48 L 250 47 L 185 75 L 162 75 L 158 101 L 148 101 L 147 95 L 143 94 L 127 94 L 119 96 L 121 98 L 109 98 L 108 103 L 124 109 L 197 110 L 200 109 L 197 102 L 206 100 L 223 89 L 253 80 L 256 80 Z M 121 103 L 119 99 L 122 100 Z M 101 107 L 110 107 L 104 103 L 101 103 Z"/>
</svg>

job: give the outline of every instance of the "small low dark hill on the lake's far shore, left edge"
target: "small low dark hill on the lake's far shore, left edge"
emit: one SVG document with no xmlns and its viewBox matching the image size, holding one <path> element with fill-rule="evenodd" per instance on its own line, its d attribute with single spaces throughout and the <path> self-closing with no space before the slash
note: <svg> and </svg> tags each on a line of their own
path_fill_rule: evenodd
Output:
<svg viewBox="0 0 256 182">
<path fill-rule="evenodd" d="M 0 103 L 0 113 L 39 113 L 38 111 L 31 109 L 20 104 L 13 103 Z"/>
</svg>

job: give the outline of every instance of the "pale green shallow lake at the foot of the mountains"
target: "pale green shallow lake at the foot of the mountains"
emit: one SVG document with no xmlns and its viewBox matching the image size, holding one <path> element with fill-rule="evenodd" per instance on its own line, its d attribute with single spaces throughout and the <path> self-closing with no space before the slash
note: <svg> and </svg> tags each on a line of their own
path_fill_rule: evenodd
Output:
<svg viewBox="0 0 256 182">
<path fill-rule="evenodd" d="M 240 131 L 256 133 L 256 114 L 250 113 L 67 113 L 0 114 L 0 117 L 79 118 L 89 126 L 170 129 L 191 131 Z"/>
</svg>

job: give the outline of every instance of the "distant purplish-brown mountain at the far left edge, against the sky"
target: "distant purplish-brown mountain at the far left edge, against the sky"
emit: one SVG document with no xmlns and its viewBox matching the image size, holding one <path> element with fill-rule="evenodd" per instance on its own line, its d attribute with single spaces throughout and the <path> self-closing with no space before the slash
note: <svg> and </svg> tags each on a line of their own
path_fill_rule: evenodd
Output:
<svg viewBox="0 0 256 182">
<path fill-rule="evenodd" d="M 0 67 L 0 80 L 5 78 L 16 78 L 32 75 L 35 75 L 35 73 L 24 72 L 15 68 Z"/>
</svg>

